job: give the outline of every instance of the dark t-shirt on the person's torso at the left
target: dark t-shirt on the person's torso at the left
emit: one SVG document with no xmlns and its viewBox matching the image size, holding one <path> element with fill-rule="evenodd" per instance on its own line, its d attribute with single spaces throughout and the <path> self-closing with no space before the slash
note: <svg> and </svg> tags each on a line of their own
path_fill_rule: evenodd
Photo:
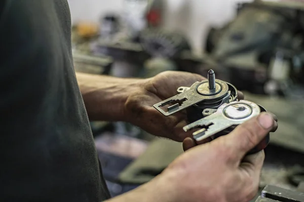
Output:
<svg viewBox="0 0 304 202">
<path fill-rule="evenodd" d="M 0 201 L 108 198 L 73 69 L 67 1 L 0 2 Z"/>
</svg>

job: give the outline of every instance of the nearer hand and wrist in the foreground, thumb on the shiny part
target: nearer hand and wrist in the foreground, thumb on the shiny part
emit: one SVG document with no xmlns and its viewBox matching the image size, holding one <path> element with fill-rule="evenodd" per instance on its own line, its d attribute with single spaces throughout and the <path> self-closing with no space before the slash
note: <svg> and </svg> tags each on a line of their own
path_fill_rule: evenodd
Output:
<svg viewBox="0 0 304 202">
<path fill-rule="evenodd" d="M 188 149 L 154 180 L 111 201 L 246 202 L 258 190 L 264 153 L 245 156 L 274 126 L 261 113 L 230 134 Z"/>
</svg>

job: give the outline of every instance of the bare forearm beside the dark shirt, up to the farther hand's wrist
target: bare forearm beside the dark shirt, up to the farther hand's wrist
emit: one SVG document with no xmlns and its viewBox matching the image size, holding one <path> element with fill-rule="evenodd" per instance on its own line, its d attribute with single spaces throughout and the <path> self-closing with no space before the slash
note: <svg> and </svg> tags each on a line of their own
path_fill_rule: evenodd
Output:
<svg viewBox="0 0 304 202">
<path fill-rule="evenodd" d="M 128 96 L 144 82 L 144 79 L 84 73 L 76 76 L 90 120 L 100 121 L 123 120 Z"/>
</svg>

